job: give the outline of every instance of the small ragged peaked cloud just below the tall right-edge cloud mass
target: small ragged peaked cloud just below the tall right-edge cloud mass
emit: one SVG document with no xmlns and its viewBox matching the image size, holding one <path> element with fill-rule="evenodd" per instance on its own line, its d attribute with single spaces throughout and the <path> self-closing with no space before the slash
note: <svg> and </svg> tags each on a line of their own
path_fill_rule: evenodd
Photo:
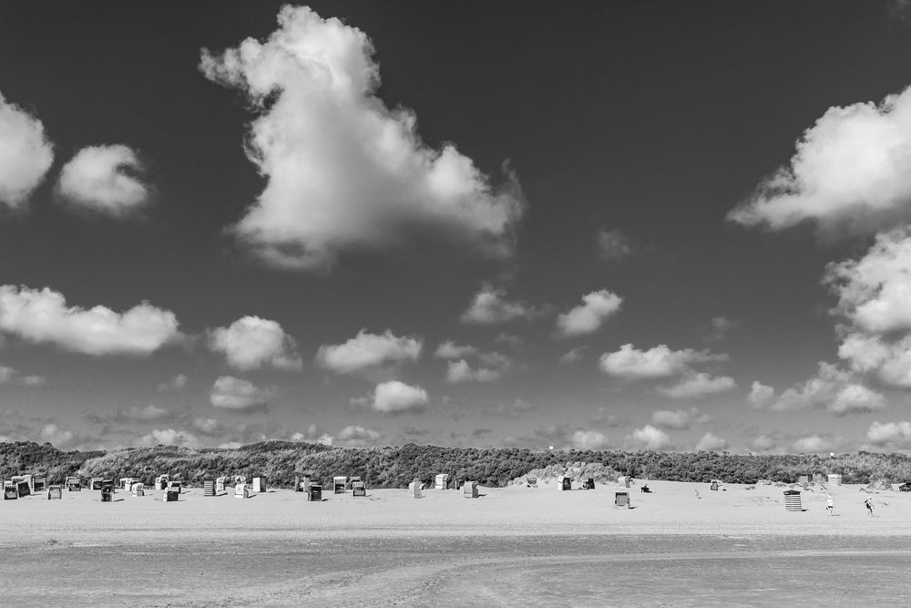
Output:
<svg viewBox="0 0 911 608">
<path fill-rule="evenodd" d="M 858 382 L 850 372 L 820 363 L 817 375 L 775 400 L 777 411 L 824 407 L 836 416 L 864 414 L 885 407 L 885 397 Z"/>
</svg>

